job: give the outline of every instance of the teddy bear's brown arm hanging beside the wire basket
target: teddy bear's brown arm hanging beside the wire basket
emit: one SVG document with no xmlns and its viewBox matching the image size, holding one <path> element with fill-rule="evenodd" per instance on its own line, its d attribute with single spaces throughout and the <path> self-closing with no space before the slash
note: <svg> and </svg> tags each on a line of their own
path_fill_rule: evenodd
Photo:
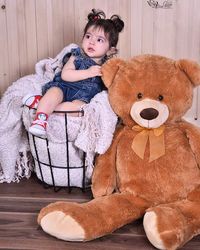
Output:
<svg viewBox="0 0 200 250">
<path fill-rule="evenodd" d="M 122 132 L 122 127 L 118 128 L 110 148 L 105 154 L 97 157 L 92 175 L 92 193 L 94 197 L 109 195 L 116 189 L 115 156 Z"/>
</svg>

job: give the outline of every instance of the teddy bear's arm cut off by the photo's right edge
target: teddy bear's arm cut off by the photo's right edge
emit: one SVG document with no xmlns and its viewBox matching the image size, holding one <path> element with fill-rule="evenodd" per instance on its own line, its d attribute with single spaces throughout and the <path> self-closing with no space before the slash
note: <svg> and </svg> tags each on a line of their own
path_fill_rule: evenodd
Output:
<svg viewBox="0 0 200 250">
<path fill-rule="evenodd" d="M 180 128 L 186 134 L 192 152 L 194 153 L 196 161 L 200 167 L 200 128 L 186 121 L 180 123 Z"/>
</svg>

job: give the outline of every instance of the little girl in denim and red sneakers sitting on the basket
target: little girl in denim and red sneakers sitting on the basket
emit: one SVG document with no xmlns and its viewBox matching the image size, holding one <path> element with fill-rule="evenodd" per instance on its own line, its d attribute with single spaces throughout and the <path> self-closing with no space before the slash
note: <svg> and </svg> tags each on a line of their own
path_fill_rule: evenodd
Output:
<svg viewBox="0 0 200 250">
<path fill-rule="evenodd" d="M 45 137 L 47 119 L 54 110 L 62 110 L 63 106 L 67 111 L 80 110 L 104 89 L 101 65 L 116 54 L 119 32 L 123 27 L 124 22 L 117 15 L 105 19 L 102 11 L 93 9 L 89 13 L 81 48 L 72 49 L 62 72 L 42 89 L 43 97 L 29 128 L 30 133 Z M 29 96 L 23 103 L 33 106 L 38 98 Z"/>
</svg>

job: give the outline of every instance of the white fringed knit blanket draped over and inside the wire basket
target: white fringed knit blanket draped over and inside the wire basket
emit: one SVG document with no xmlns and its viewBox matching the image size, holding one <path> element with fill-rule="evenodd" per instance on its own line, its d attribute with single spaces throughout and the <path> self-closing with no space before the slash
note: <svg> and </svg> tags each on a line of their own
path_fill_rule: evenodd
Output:
<svg viewBox="0 0 200 250">
<path fill-rule="evenodd" d="M 70 44 L 54 59 L 44 59 L 36 64 L 36 73 L 25 76 L 14 82 L 4 93 L 0 103 L 0 182 L 18 182 L 21 178 L 29 178 L 33 170 L 33 162 L 29 154 L 34 156 L 32 144 L 27 140 L 26 129 L 33 118 L 32 111 L 22 107 L 22 98 L 28 94 L 40 94 L 41 87 L 53 79 L 56 71 L 60 70 L 63 56 L 77 47 Z M 23 118 L 23 119 L 22 119 Z M 97 94 L 90 104 L 84 108 L 84 116 L 69 117 L 70 158 L 72 165 L 80 165 L 81 151 L 86 152 L 87 177 L 92 173 L 94 155 L 104 153 L 110 146 L 117 123 L 117 116 L 108 102 L 107 92 Z M 26 128 L 26 129 L 25 129 Z M 64 117 L 52 115 L 49 118 L 47 130 L 48 140 L 54 155 L 54 164 L 65 164 L 58 154 L 63 156 L 65 145 Z M 44 142 L 39 143 L 39 149 L 44 150 Z M 36 173 L 37 166 L 36 166 Z M 48 173 L 47 179 L 48 177 Z M 58 180 L 62 173 L 58 174 Z M 80 186 L 81 176 L 76 172 L 71 179 L 74 186 Z M 39 174 L 38 174 L 39 177 Z M 77 179 L 76 179 L 77 177 Z M 62 182 L 62 181 L 61 181 Z M 48 183 L 48 180 L 47 180 Z M 51 183 L 50 183 L 51 184 Z M 62 183 L 56 183 L 61 185 Z"/>
</svg>

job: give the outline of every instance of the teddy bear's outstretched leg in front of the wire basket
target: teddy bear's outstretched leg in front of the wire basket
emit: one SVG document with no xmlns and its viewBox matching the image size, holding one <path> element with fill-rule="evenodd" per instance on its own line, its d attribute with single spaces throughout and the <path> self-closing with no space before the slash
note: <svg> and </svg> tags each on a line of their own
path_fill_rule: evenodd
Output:
<svg viewBox="0 0 200 250">
<path fill-rule="evenodd" d="M 149 206 L 130 194 L 112 194 L 83 204 L 56 202 L 40 211 L 38 223 L 45 232 L 59 239 L 86 241 L 141 217 Z"/>
</svg>

